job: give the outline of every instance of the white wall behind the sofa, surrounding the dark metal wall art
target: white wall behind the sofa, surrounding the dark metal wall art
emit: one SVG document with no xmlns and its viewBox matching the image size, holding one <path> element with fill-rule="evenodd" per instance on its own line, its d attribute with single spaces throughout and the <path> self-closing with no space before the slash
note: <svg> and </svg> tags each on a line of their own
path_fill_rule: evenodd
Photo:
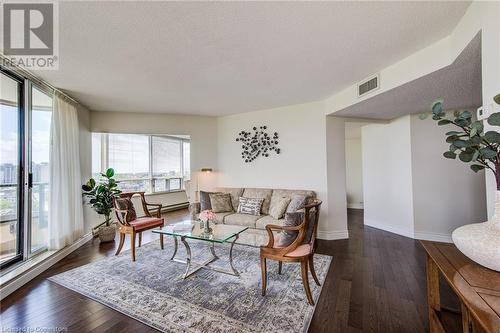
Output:
<svg viewBox="0 0 500 333">
<path fill-rule="evenodd" d="M 324 114 L 322 103 L 306 103 L 218 118 L 219 184 L 314 190 L 323 200 L 319 236 L 332 237 Z M 240 131 L 262 125 L 271 133 L 278 132 L 281 154 L 245 163 L 235 139 Z"/>
</svg>

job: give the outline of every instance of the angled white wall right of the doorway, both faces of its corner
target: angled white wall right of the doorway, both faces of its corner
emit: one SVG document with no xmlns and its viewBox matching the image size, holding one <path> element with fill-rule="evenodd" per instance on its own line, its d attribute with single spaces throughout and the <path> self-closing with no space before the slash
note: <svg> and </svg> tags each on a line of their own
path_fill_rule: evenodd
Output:
<svg viewBox="0 0 500 333">
<path fill-rule="evenodd" d="M 442 156 L 449 130 L 416 115 L 362 128 L 366 225 L 450 242 L 455 228 L 486 220 L 484 172 Z"/>
</svg>

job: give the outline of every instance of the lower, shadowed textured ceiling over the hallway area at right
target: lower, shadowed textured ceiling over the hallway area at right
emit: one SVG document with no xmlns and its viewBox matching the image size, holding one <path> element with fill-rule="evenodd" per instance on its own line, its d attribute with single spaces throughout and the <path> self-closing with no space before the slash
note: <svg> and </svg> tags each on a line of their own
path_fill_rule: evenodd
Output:
<svg viewBox="0 0 500 333">
<path fill-rule="evenodd" d="M 481 35 L 478 34 L 450 66 L 332 115 L 394 119 L 429 111 L 432 102 L 438 98 L 444 99 L 444 106 L 449 110 L 473 109 L 482 104 L 481 87 Z"/>
</svg>

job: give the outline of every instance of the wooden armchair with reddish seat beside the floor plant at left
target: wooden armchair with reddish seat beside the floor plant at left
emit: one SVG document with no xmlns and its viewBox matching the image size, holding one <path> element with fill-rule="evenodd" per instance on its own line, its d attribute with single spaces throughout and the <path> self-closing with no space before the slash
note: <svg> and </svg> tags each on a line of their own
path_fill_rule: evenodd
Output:
<svg viewBox="0 0 500 333">
<path fill-rule="evenodd" d="M 142 208 L 146 216 L 137 217 L 131 201 L 134 195 L 140 196 Z M 144 192 L 121 193 L 120 198 L 113 199 L 113 207 L 115 208 L 116 218 L 118 219 L 118 231 L 120 232 L 120 245 L 118 246 L 115 255 L 120 254 L 123 243 L 125 242 L 125 235 L 129 234 L 130 253 L 132 255 L 132 261 L 135 261 L 135 235 L 139 235 L 140 247 L 142 245 L 143 231 L 157 227 L 163 227 L 164 220 L 161 217 L 161 206 L 161 204 L 147 203 L 146 199 L 144 198 Z M 162 234 L 160 234 L 160 246 L 163 250 Z"/>
</svg>

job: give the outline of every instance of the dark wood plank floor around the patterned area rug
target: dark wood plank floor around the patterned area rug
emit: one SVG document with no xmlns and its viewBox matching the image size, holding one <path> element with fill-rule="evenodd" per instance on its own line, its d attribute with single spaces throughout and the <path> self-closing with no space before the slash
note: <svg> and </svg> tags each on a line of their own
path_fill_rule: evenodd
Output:
<svg viewBox="0 0 500 333">
<path fill-rule="evenodd" d="M 167 214 L 171 222 L 187 211 Z M 425 255 L 418 241 L 364 227 L 363 211 L 349 210 L 349 239 L 320 241 L 333 256 L 309 332 L 428 331 Z M 144 235 L 144 242 L 152 234 Z M 1 330 L 62 328 L 70 332 L 157 332 L 119 312 L 46 280 L 114 254 L 116 244 L 90 241 L 0 304 Z M 127 248 L 128 244 L 124 248 Z M 444 289 L 443 303 L 457 308 Z"/>
</svg>

